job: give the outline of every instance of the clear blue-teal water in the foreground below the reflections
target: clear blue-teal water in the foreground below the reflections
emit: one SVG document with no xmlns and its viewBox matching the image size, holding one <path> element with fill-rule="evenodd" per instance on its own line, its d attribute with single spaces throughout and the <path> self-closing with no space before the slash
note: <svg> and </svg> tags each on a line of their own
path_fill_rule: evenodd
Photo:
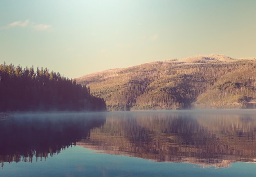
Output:
<svg viewBox="0 0 256 177">
<path fill-rule="evenodd" d="M 33 159 L 35 160 L 35 159 Z M 148 159 L 95 153 L 72 146 L 38 162 L 4 163 L 1 177 L 253 177 L 256 164 L 237 162 L 229 168 L 186 163 L 153 162 Z"/>
</svg>

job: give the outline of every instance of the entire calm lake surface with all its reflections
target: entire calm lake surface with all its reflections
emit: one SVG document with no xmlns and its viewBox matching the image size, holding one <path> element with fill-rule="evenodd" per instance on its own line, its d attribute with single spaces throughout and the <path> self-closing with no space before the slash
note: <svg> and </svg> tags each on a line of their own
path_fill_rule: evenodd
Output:
<svg viewBox="0 0 256 177">
<path fill-rule="evenodd" d="M 256 111 L 10 114 L 0 176 L 256 176 Z"/>
</svg>

